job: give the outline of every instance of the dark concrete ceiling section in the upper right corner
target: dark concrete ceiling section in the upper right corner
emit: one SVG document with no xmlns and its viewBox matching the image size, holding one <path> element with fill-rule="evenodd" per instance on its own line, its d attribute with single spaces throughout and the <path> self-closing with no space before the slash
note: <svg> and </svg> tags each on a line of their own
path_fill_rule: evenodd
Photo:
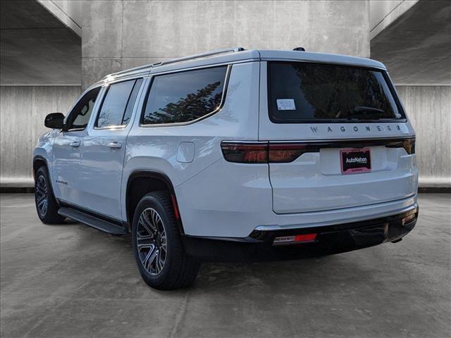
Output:
<svg viewBox="0 0 451 338">
<path fill-rule="evenodd" d="M 451 84 L 451 1 L 421 0 L 371 40 L 395 84 Z"/>
</svg>

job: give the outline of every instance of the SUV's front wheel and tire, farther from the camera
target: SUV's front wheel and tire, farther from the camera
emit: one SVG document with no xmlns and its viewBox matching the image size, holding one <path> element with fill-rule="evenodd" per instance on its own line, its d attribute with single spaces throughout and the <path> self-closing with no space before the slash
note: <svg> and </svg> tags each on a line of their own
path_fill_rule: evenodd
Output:
<svg viewBox="0 0 451 338">
<path fill-rule="evenodd" d="M 63 223 L 64 217 L 58 214 L 58 204 L 51 189 L 47 168 L 37 170 L 35 180 L 35 204 L 39 219 L 44 224 Z"/>
</svg>

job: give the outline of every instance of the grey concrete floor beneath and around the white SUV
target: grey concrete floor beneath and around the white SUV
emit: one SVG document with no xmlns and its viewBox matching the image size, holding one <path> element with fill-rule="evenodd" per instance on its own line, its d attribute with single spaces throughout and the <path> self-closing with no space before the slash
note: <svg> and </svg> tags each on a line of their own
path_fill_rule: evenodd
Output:
<svg viewBox="0 0 451 338">
<path fill-rule="evenodd" d="M 0 198 L 1 337 L 451 336 L 450 194 L 421 194 L 400 243 L 204 264 L 175 292 L 142 282 L 128 239 L 43 225 L 31 194 Z"/>
</svg>

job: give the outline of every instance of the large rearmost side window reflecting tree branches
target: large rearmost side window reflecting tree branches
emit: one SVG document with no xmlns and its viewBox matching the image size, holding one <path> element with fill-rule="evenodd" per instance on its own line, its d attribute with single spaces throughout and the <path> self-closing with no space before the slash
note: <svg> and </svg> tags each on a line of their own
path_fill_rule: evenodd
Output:
<svg viewBox="0 0 451 338">
<path fill-rule="evenodd" d="M 142 125 L 185 123 L 221 106 L 227 66 L 156 75 L 144 108 Z"/>
</svg>

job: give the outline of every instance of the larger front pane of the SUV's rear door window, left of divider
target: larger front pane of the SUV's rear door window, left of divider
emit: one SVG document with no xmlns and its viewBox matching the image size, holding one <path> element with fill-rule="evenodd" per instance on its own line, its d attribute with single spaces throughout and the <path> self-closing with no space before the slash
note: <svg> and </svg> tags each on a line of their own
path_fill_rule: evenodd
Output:
<svg viewBox="0 0 451 338">
<path fill-rule="evenodd" d="M 134 85 L 135 80 L 110 85 L 101 105 L 96 127 L 105 128 L 122 125 L 125 107 L 128 104 Z"/>
</svg>

